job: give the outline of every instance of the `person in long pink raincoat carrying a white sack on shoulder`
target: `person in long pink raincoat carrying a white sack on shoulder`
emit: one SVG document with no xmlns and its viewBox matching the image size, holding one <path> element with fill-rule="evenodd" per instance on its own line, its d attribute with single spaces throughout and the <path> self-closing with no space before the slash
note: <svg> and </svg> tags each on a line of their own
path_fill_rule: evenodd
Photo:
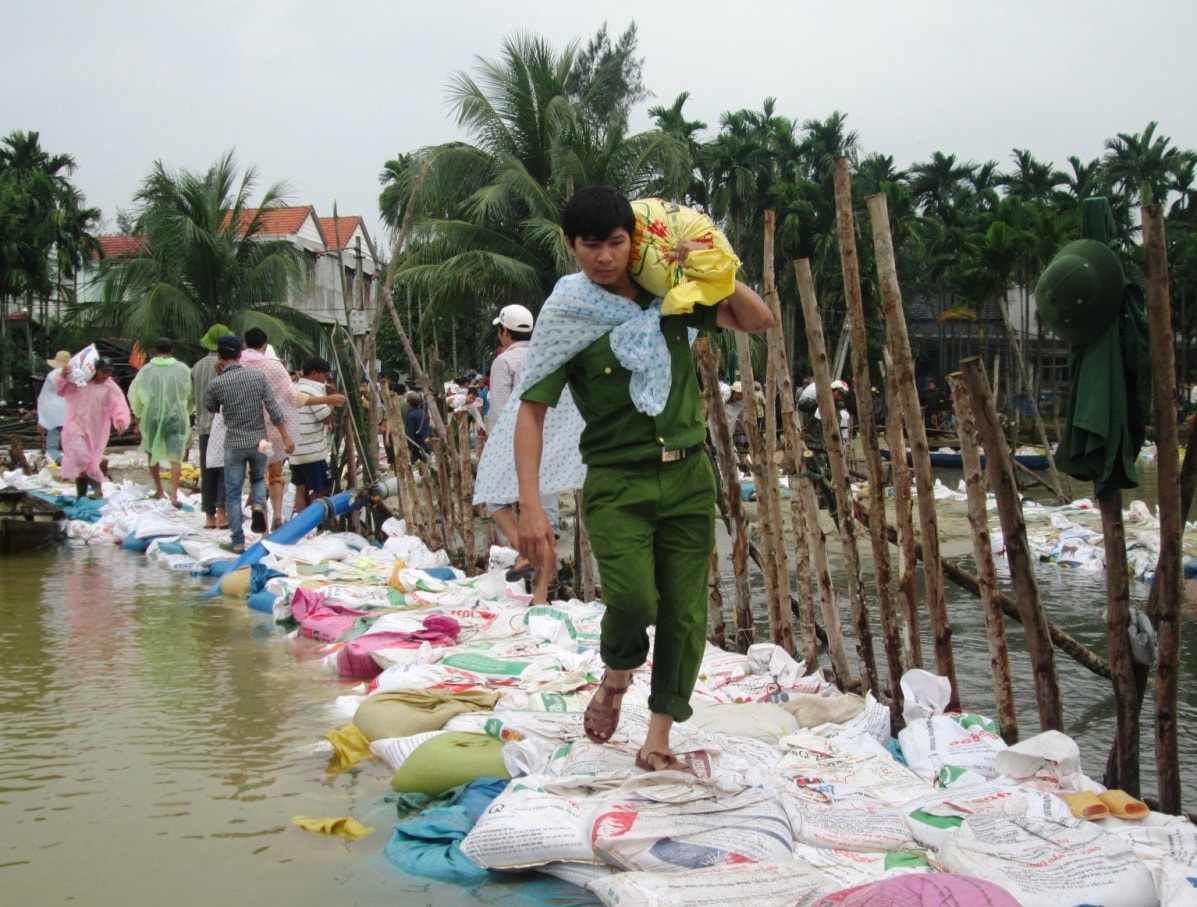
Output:
<svg viewBox="0 0 1197 907">
<path fill-rule="evenodd" d="M 60 475 L 74 479 L 75 494 L 83 498 L 87 494 L 89 480 L 97 493 L 104 481 L 99 463 L 104 458 L 109 432 L 116 428 L 117 434 L 124 434 L 133 415 L 124 394 L 111 381 L 111 359 L 101 357 L 96 363 L 96 373 L 83 386 L 72 383 L 65 371 L 61 370 L 54 378 L 59 396 L 67 401 Z"/>
</svg>

